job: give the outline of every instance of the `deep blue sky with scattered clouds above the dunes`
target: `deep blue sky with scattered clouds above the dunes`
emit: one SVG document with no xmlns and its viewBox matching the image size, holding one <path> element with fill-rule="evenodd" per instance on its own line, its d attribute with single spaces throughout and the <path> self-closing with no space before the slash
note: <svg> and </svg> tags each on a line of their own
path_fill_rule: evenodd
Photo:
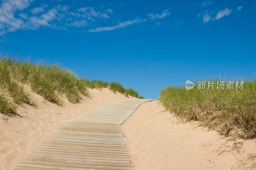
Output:
<svg viewBox="0 0 256 170">
<path fill-rule="evenodd" d="M 252 77 L 255 11 L 255 0 L 2 0 L 0 52 L 157 98 L 165 85 L 210 73 Z"/>
</svg>

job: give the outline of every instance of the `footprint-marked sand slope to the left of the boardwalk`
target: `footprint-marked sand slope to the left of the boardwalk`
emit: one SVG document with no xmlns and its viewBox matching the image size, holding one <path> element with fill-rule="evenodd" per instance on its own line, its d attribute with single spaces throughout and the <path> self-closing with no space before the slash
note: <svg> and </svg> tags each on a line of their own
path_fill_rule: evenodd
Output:
<svg viewBox="0 0 256 170">
<path fill-rule="evenodd" d="M 30 90 L 27 86 L 28 91 Z M 129 100 L 104 88 L 89 89 L 91 98 L 84 98 L 78 104 L 71 104 L 67 99 L 63 107 L 45 101 L 41 96 L 31 93 L 38 99 L 38 108 L 24 104 L 19 114 L 22 117 L 8 117 L 0 114 L 0 169 L 13 169 L 33 147 L 41 143 L 49 132 L 56 129 L 63 121 L 83 115 L 97 107 L 110 103 Z"/>
</svg>

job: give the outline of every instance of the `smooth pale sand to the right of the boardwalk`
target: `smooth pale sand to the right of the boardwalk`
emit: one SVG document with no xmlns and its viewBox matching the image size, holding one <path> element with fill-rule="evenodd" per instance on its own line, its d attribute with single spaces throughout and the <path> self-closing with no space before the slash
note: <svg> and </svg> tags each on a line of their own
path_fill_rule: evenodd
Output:
<svg viewBox="0 0 256 170">
<path fill-rule="evenodd" d="M 241 154 L 231 151 L 234 141 L 227 142 L 227 138 L 217 132 L 195 128 L 191 123 L 177 123 L 158 102 L 142 103 L 122 124 L 134 169 L 246 169 L 251 166 L 246 162 L 248 153 L 256 153 L 255 140 L 243 140 Z"/>
</svg>

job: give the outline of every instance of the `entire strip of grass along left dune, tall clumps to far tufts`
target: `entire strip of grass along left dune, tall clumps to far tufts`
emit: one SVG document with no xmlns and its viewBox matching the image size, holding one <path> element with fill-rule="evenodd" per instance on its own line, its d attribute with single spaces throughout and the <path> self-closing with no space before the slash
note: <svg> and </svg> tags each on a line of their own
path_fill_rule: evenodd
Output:
<svg viewBox="0 0 256 170">
<path fill-rule="evenodd" d="M 15 113 L 21 103 L 37 106 L 36 100 L 24 89 L 24 84 L 28 84 L 45 100 L 58 105 L 62 105 L 59 96 L 64 95 L 71 103 L 77 103 L 82 99 L 81 95 L 89 96 L 87 88 L 102 89 L 109 86 L 108 81 L 89 81 L 85 78 L 78 78 L 73 71 L 56 64 L 33 64 L 2 57 L 0 58 L 0 112 Z M 123 88 L 121 93 L 126 96 L 138 97 L 138 92 L 132 88 L 125 89 L 121 83 L 118 85 Z"/>
</svg>

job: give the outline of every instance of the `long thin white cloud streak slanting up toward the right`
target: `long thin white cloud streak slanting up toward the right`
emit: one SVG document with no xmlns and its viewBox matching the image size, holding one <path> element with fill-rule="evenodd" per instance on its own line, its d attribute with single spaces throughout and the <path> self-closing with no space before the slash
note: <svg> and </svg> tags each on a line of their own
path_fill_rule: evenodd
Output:
<svg viewBox="0 0 256 170">
<path fill-rule="evenodd" d="M 115 26 L 110 26 L 110 27 L 98 27 L 96 29 L 90 29 L 88 32 L 102 32 L 102 31 L 110 31 L 110 30 L 115 30 L 115 29 L 119 29 L 119 28 L 124 28 L 127 27 L 129 25 L 132 24 L 139 24 L 143 21 L 146 21 L 146 19 L 134 19 L 132 21 L 124 21 L 124 22 L 120 22 L 119 24 L 115 25 Z"/>
</svg>

